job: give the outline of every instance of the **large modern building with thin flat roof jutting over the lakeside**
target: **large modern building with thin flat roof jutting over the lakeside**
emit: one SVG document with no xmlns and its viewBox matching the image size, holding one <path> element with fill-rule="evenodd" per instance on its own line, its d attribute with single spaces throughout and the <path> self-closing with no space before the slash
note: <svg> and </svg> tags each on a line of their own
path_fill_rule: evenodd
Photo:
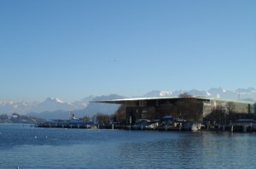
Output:
<svg viewBox="0 0 256 169">
<path fill-rule="evenodd" d="M 241 118 L 255 119 L 256 104 L 248 101 L 206 97 L 156 97 L 102 100 L 99 103 L 125 106 L 126 121 L 156 120 L 165 115 L 188 121 L 218 121 L 222 123 Z"/>
</svg>

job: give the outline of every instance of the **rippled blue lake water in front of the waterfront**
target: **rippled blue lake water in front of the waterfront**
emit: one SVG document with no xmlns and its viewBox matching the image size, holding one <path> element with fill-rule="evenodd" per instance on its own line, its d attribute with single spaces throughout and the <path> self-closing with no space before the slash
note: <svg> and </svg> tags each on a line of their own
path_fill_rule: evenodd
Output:
<svg viewBox="0 0 256 169">
<path fill-rule="evenodd" d="M 0 124 L 0 168 L 255 168 L 256 134 Z"/>
</svg>

